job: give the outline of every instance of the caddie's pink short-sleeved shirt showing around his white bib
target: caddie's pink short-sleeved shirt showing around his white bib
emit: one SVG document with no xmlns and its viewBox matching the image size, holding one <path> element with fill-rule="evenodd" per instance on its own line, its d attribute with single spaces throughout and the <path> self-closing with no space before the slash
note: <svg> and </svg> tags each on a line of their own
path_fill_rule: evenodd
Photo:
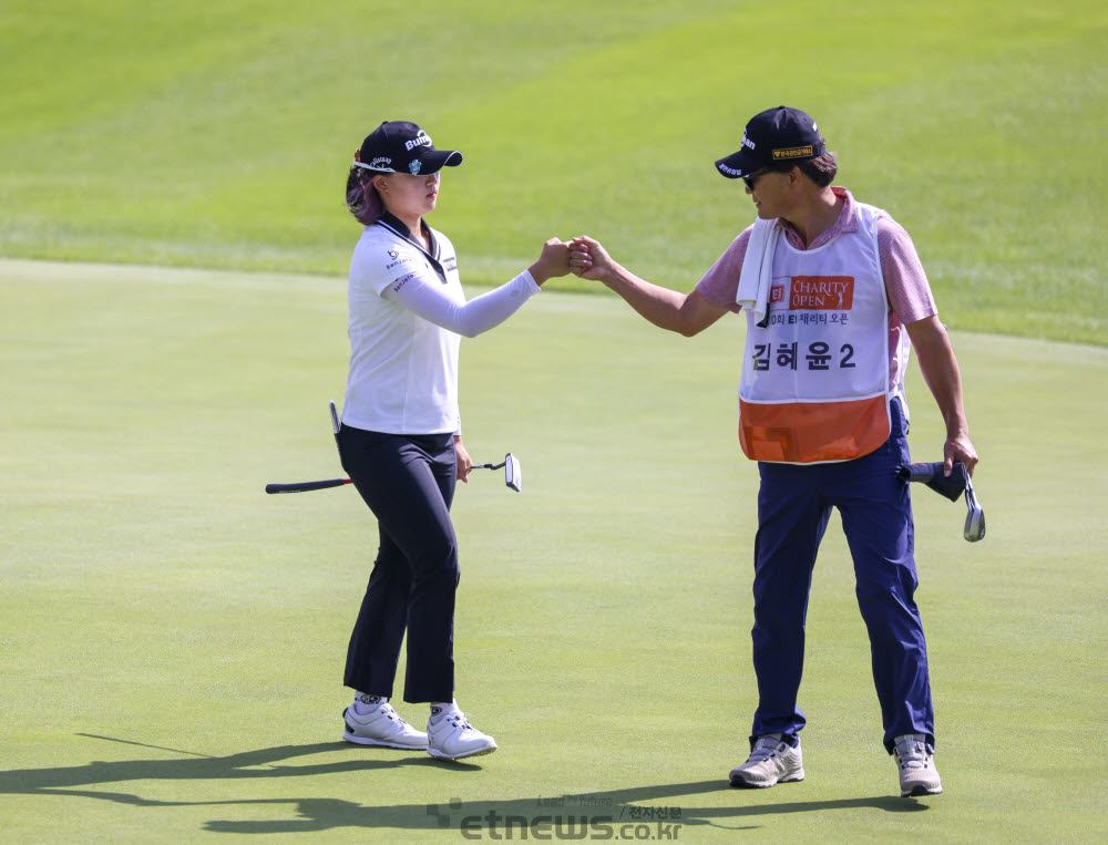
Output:
<svg viewBox="0 0 1108 845">
<path fill-rule="evenodd" d="M 854 197 L 847 188 L 831 189 L 835 196 L 845 200 L 842 212 L 834 225 L 815 237 L 807 249 L 821 247 L 840 233 L 858 231 L 858 205 Z M 806 249 L 797 230 L 783 220 L 782 224 L 789 245 Z M 728 308 L 735 313 L 742 310 L 735 298 L 739 292 L 739 275 L 742 272 L 742 259 L 746 258 L 752 229 L 753 225 L 743 229 L 696 286 L 696 291 L 706 301 Z M 901 381 L 903 373 L 897 371 L 897 362 L 892 353 L 900 343 L 904 324 L 938 313 L 938 309 L 912 238 L 888 214 L 878 219 L 878 256 L 881 259 L 885 292 L 889 295 L 889 351 L 893 368 L 893 372 L 889 374 L 889 383 L 894 387 Z"/>
</svg>

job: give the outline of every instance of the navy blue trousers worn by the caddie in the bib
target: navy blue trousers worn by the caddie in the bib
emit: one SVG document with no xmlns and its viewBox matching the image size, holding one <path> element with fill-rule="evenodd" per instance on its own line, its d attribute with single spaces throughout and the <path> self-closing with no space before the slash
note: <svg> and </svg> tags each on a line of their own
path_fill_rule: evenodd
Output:
<svg viewBox="0 0 1108 845">
<path fill-rule="evenodd" d="M 876 452 L 834 464 L 760 463 L 755 540 L 755 673 L 758 710 L 751 743 L 780 732 L 790 744 L 804 727 L 797 705 L 804 663 L 804 624 L 812 569 L 831 508 L 839 508 L 854 560 L 855 594 L 870 636 L 873 682 L 884 744 L 923 733 L 934 744 L 927 646 L 913 595 L 912 502 L 896 477 L 909 463 L 907 425 L 899 400 Z"/>
</svg>

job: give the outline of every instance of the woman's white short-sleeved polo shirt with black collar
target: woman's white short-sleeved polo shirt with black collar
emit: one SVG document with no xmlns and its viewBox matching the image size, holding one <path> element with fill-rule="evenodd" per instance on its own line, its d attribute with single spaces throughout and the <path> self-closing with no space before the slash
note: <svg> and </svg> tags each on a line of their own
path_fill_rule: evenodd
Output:
<svg viewBox="0 0 1108 845">
<path fill-rule="evenodd" d="M 465 303 L 450 239 L 428 227 L 431 251 L 386 215 L 367 226 L 350 260 L 350 375 L 342 422 L 389 434 L 460 432 L 458 351 L 461 337 L 382 297 L 414 280 Z"/>
</svg>

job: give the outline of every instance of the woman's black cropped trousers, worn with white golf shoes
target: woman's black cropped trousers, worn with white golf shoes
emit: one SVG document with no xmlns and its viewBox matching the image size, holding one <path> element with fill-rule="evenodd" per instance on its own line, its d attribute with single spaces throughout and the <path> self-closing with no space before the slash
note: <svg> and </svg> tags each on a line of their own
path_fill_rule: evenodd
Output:
<svg viewBox="0 0 1108 845">
<path fill-rule="evenodd" d="M 454 697 L 458 465 L 451 434 L 382 434 L 343 425 L 342 467 L 377 517 L 380 548 L 347 651 L 347 687 L 392 697 L 408 631 L 404 701 Z"/>
</svg>

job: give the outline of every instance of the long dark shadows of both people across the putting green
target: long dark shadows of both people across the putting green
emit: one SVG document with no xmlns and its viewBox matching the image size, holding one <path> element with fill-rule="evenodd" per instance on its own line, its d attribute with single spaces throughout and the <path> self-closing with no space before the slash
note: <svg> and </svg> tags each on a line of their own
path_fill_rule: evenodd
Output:
<svg viewBox="0 0 1108 845">
<path fill-rule="evenodd" d="M 79 734 L 92 739 L 142 745 L 188 755 L 185 760 L 126 760 L 117 762 L 94 761 L 79 766 L 55 769 L 23 769 L 0 771 L 2 795 L 73 795 L 111 801 L 136 807 L 170 806 L 264 806 L 290 805 L 290 817 L 271 821 L 213 820 L 204 829 L 213 833 L 273 834 L 312 833 L 340 827 L 449 829 L 468 833 L 470 838 L 627 838 L 619 835 L 623 825 L 635 827 L 632 838 L 642 838 L 646 826 L 650 838 L 677 838 L 680 827 L 709 825 L 729 829 L 755 829 L 760 825 L 745 825 L 758 816 L 812 813 L 834 810 L 873 808 L 891 813 L 920 812 L 927 808 L 914 798 L 875 796 L 841 801 L 783 802 L 773 804 L 746 804 L 725 807 L 659 808 L 637 806 L 636 802 L 657 802 L 715 792 L 731 793 L 735 802 L 747 802 L 758 793 L 732 790 L 722 779 L 691 783 L 658 784 L 583 794 L 564 794 L 548 798 L 516 798 L 510 801 L 481 801 L 463 803 L 451 798 L 448 804 L 399 804 L 370 806 L 340 798 L 243 798 L 228 801 L 162 801 L 144 798 L 127 792 L 109 792 L 82 789 L 127 781 L 207 781 L 207 780 L 267 780 L 273 777 L 305 777 L 341 772 L 372 772 L 401 766 L 449 767 L 456 773 L 476 772 L 481 766 L 464 762 L 450 763 L 430 756 L 375 756 L 342 760 L 334 763 L 280 765 L 281 761 L 335 751 L 349 751 L 350 745 L 320 742 L 304 745 L 277 745 L 270 749 L 245 751 L 227 756 L 207 756 L 157 745 L 117 740 L 94 734 Z M 381 753 L 402 754 L 380 750 Z M 787 786 L 787 790 L 796 789 Z M 776 791 L 774 791 L 776 792 Z M 757 800 L 757 798 L 753 798 Z M 668 813 L 661 814 L 661 810 Z M 540 825 L 538 828 L 535 826 Z M 543 826 L 545 825 L 545 826 Z M 675 827 L 676 825 L 676 827 Z M 535 831 L 545 837 L 534 836 Z M 499 834 L 497 834 L 499 832 Z M 607 835 L 605 835 L 607 833 Z M 666 835 L 666 834 L 671 834 Z M 659 835 L 661 834 L 661 835 Z"/>
</svg>

